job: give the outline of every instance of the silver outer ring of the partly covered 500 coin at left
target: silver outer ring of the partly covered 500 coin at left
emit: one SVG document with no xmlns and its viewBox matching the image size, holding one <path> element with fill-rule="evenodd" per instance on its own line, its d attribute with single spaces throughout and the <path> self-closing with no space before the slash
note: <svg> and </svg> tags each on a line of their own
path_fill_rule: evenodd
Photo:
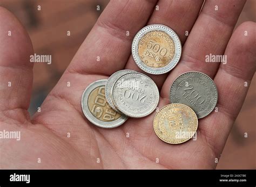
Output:
<svg viewBox="0 0 256 187">
<path fill-rule="evenodd" d="M 88 98 L 89 98 L 89 95 L 92 92 L 92 90 L 94 90 L 100 86 L 104 86 L 106 84 L 106 81 L 107 80 L 98 80 L 98 81 L 95 81 L 95 82 L 89 84 L 83 92 L 83 95 L 81 98 L 81 106 L 82 106 L 82 111 L 84 113 L 84 116 L 92 124 L 94 124 L 98 127 L 102 127 L 102 128 L 114 128 L 114 127 L 118 127 L 118 126 L 122 125 L 128 119 L 127 116 L 122 115 L 120 118 L 118 118 L 114 121 L 109 121 L 109 122 L 101 121 L 92 115 L 92 113 L 90 112 L 89 107 L 88 107 Z M 110 125 L 110 124 L 112 124 L 112 125 Z"/>
</svg>

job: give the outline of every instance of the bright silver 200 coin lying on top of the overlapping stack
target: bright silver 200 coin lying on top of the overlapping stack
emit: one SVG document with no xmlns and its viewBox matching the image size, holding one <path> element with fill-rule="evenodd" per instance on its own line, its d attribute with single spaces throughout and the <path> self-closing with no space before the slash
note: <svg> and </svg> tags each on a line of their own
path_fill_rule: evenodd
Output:
<svg viewBox="0 0 256 187">
<path fill-rule="evenodd" d="M 132 118 L 149 115 L 159 102 L 156 83 L 141 73 L 129 73 L 118 78 L 111 95 L 117 109 Z"/>
</svg>

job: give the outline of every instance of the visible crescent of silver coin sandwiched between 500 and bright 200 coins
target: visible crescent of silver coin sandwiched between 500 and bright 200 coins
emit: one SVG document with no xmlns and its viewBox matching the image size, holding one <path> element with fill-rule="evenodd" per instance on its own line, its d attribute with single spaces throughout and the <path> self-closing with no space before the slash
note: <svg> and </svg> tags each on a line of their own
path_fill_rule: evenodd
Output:
<svg viewBox="0 0 256 187">
<path fill-rule="evenodd" d="M 106 85 L 105 85 L 105 98 L 106 98 L 106 102 L 112 107 L 112 109 L 113 109 L 114 111 L 119 112 L 119 113 L 122 113 L 122 112 L 119 111 L 119 110 L 116 108 L 116 106 L 114 106 L 113 100 L 112 100 L 112 97 L 111 97 L 111 96 L 112 96 L 112 95 L 111 95 L 111 90 L 113 89 L 114 83 L 118 80 L 118 78 L 120 78 L 120 76 L 119 76 L 118 78 L 116 78 L 116 79 L 113 79 L 113 80 L 112 80 L 112 83 L 110 83 L 110 80 L 111 80 L 111 78 L 114 77 L 114 75 L 116 75 L 117 73 L 119 73 L 119 72 L 121 72 L 121 71 L 132 71 L 132 72 L 129 72 L 129 73 L 136 72 L 136 71 L 131 70 L 131 69 L 122 69 L 122 70 L 116 71 L 115 73 L 113 73 L 113 74 L 109 77 L 109 79 L 107 80 Z M 127 73 L 125 73 L 125 74 L 127 74 Z M 123 75 L 125 75 L 125 74 L 123 74 Z M 121 76 L 123 76 L 123 75 L 121 75 Z M 106 88 L 107 88 L 108 83 L 110 83 L 110 84 L 109 84 L 109 85 L 110 85 L 110 93 L 109 93 L 109 92 L 106 92 L 106 90 L 107 90 Z M 109 95 L 109 97 L 107 97 L 107 95 Z"/>
</svg>

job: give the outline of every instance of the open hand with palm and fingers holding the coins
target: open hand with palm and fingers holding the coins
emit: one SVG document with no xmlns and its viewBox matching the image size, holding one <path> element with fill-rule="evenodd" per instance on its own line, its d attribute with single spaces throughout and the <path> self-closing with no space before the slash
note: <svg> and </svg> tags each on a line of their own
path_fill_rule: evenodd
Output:
<svg viewBox="0 0 256 187">
<path fill-rule="evenodd" d="M 159 11 L 154 10 L 156 3 Z M 12 13 L 0 8 L 0 131 L 21 131 L 21 141 L 0 140 L 0 168 L 215 168 L 215 158 L 220 157 L 244 103 L 248 90 L 244 83 L 250 85 L 254 75 L 256 24 L 243 23 L 233 32 L 245 1 L 206 1 L 198 16 L 202 3 L 111 1 L 44 100 L 41 112 L 32 118 L 28 113 L 33 78 L 31 41 Z M 181 60 L 170 74 L 149 75 L 160 91 L 159 108 L 169 104 L 173 80 L 186 71 L 201 71 L 217 85 L 218 112 L 199 120 L 197 141 L 169 145 L 158 139 L 153 131 L 156 112 L 129 119 L 111 130 L 97 128 L 83 116 L 80 98 L 87 85 L 120 69 L 142 72 L 131 57 L 131 42 L 147 24 L 171 27 L 183 44 Z M 206 63 L 205 55 L 210 53 L 227 55 L 227 64 Z"/>
</svg>

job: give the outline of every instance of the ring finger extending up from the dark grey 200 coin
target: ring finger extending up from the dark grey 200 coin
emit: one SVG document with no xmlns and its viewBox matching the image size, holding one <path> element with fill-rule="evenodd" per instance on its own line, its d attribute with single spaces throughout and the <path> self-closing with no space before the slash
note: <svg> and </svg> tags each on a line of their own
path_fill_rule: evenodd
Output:
<svg viewBox="0 0 256 187">
<path fill-rule="evenodd" d="M 245 1 L 206 1 L 183 47 L 177 67 L 167 77 L 162 96 L 169 96 L 172 81 L 186 71 L 214 77 L 220 63 L 206 63 L 206 55 L 223 55 Z"/>
</svg>

